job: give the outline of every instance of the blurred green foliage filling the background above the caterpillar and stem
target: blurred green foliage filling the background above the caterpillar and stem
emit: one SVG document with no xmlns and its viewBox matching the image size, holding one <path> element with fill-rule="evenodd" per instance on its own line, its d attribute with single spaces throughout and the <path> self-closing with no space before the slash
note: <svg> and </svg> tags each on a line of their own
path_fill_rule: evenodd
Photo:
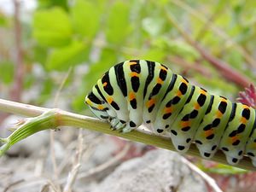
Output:
<svg viewBox="0 0 256 192">
<path fill-rule="evenodd" d="M 253 0 L 38 0 L 32 15 L 20 16 L 22 99 L 54 107 L 56 92 L 72 68 L 60 98 L 73 111 L 84 113 L 84 96 L 109 67 L 127 59 L 147 59 L 235 100 L 241 88 L 204 61 L 167 14 L 212 55 L 254 83 L 255 7 Z M 0 9 L 0 96 L 6 98 L 15 78 L 14 25 L 14 16 Z M 172 56 L 183 62 L 173 62 Z"/>
</svg>

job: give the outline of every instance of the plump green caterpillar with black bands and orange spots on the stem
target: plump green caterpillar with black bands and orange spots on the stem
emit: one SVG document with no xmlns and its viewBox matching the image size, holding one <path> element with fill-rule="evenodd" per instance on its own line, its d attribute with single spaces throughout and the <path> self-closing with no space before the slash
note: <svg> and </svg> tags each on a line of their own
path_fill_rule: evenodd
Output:
<svg viewBox="0 0 256 192">
<path fill-rule="evenodd" d="M 185 153 L 195 143 L 210 159 L 220 149 L 230 165 L 249 156 L 256 166 L 255 109 L 190 84 L 166 66 L 144 60 L 109 69 L 85 97 L 92 113 L 128 132 L 150 124 Z"/>
</svg>

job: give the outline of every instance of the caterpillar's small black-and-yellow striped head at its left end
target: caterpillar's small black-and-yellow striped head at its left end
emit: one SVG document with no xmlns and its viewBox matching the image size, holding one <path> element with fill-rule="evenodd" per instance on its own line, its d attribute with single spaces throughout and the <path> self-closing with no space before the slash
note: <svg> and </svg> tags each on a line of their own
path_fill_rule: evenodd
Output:
<svg viewBox="0 0 256 192">
<path fill-rule="evenodd" d="M 91 91 L 84 100 L 85 104 L 88 105 L 90 111 L 96 115 L 98 119 L 107 121 L 109 119 L 107 110 L 104 108 L 104 101 L 101 101 L 95 94 Z"/>
</svg>

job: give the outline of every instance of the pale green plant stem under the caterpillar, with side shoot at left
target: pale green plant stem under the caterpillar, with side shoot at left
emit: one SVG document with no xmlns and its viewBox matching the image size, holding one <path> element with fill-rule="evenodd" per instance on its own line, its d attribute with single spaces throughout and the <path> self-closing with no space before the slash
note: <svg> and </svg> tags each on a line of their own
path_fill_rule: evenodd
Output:
<svg viewBox="0 0 256 192">
<path fill-rule="evenodd" d="M 20 115 L 34 117 L 39 115 L 36 118 L 32 118 L 32 124 L 26 127 L 26 131 L 31 131 L 32 134 L 42 131 L 45 129 L 55 129 L 59 126 L 72 126 L 89 129 L 91 131 L 100 131 L 102 133 L 106 133 L 112 136 L 123 137 L 125 139 L 145 143 L 148 145 L 153 145 L 159 148 L 166 148 L 168 150 L 175 151 L 174 146 L 169 137 L 154 135 L 152 132 L 136 130 L 128 133 L 120 133 L 119 131 L 112 131 L 110 129 L 110 125 L 108 123 L 102 122 L 99 119 L 90 118 L 84 115 L 80 115 L 77 113 L 70 113 L 67 111 L 63 111 L 61 109 L 50 109 L 50 108 L 39 108 L 32 105 L 26 105 L 18 102 L 10 102 L 3 99 L 0 99 L 0 111 L 16 113 Z M 38 123 L 39 122 L 39 123 Z M 26 123 L 25 123 L 26 124 Z M 22 126 L 22 125 L 21 125 Z M 16 130 L 10 135 L 8 138 L 2 138 L 0 141 L 3 143 L 7 143 L 8 139 L 13 138 L 16 134 L 20 134 L 20 137 L 27 136 L 27 132 L 22 131 L 21 129 Z M 19 133 L 19 134 L 18 134 Z M 30 134 L 30 135 L 32 135 Z M 15 138 L 16 138 L 15 137 Z M 18 140 L 15 139 L 15 142 Z M 20 141 L 20 140 L 19 140 Z M 201 157 L 198 149 L 195 147 L 195 144 L 192 144 L 189 148 L 187 154 Z M 222 152 L 218 151 L 217 154 L 214 155 L 212 160 L 218 161 L 220 163 L 226 164 L 225 156 Z M 254 167 L 249 158 L 244 157 L 240 164 L 237 167 L 242 169 L 247 169 L 251 171 L 256 171 L 256 167 Z"/>
</svg>

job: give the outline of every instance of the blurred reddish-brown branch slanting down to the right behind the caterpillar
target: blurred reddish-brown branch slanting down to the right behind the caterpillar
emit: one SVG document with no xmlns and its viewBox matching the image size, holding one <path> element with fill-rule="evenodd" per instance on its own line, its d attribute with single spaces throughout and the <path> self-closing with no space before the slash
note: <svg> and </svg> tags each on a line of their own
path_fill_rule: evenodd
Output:
<svg viewBox="0 0 256 192">
<path fill-rule="evenodd" d="M 225 61 L 221 61 L 214 55 L 211 55 L 206 48 L 203 48 L 201 44 L 195 42 L 195 40 L 191 38 L 181 26 L 179 26 L 177 20 L 174 19 L 173 15 L 171 15 L 167 9 L 165 9 L 165 12 L 167 19 L 172 23 L 173 26 L 177 28 L 177 31 L 181 33 L 183 38 L 201 54 L 201 57 L 211 63 L 213 67 L 216 67 L 219 72 L 222 73 L 225 79 L 228 79 L 241 87 L 247 87 L 249 84 L 253 84 L 253 81 L 247 79 L 247 77 L 245 77 L 243 74 L 231 68 L 230 65 Z"/>
</svg>

